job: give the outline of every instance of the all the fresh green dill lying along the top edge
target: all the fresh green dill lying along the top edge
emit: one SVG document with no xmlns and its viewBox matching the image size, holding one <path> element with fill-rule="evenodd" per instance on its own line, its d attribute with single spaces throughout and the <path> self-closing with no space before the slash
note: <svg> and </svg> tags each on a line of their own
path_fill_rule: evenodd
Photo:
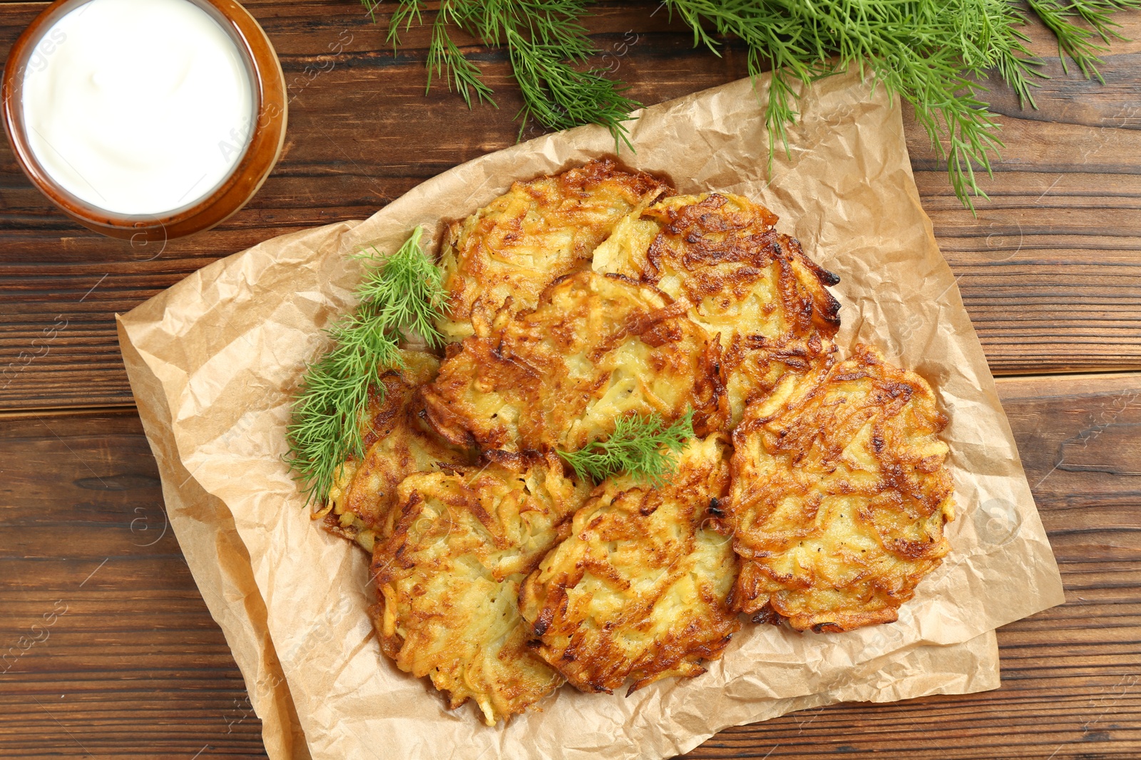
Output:
<svg viewBox="0 0 1141 760">
<path fill-rule="evenodd" d="M 375 15 L 378 0 L 362 0 Z M 584 123 L 607 126 L 626 141 L 625 122 L 637 103 L 605 71 L 588 68 L 599 50 L 581 19 L 592 0 L 440 0 L 432 19 L 429 87 L 445 79 L 468 106 L 472 96 L 494 104 L 480 68 L 452 39 L 461 28 L 487 46 L 507 48 L 524 106 L 518 117 L 549 129 Z M 915 108 L 915 119 L 947 162 L 955 195 L 973 209 L 986 197 L 976 171 L 990 173 L 1003 147 L 1000 125 L 984 99 L 988 79 L 1006 82 L 1022 106 L 1036 107 L 1033 89 L 1045 76 L 1022 31 L 1036 16 L 1058 41 L 1063 71 L 1073 60 L 1102 81 L 1099 57 L 1122 39 L 1114 14 L 1141 0 L 664 0 L 694 32 L 695 44 L 719 54 L 727 38 L 748 49 L 755 77 L 771 67 L 766 123 L 769 158 L 787 152 L 800 83 L 850 65 Z M 389 41 L 423 23 L 423 0 L 399 0 L 389 16 Z"/>
</svg>

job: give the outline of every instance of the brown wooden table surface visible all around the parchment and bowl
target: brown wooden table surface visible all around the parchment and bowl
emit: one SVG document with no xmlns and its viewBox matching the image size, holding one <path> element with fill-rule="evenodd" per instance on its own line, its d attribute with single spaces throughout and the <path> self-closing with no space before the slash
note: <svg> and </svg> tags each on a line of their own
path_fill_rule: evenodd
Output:
<svg viewBox="0 0 1141 760">
<path fill-rule="evenodd" d="M 0 1 L 0 54 L 46 5 Z M 264 755 L 242 677 L 165 528 L 113 314 L 268 237 L 363 219 L 516 138 L 500 52 L 474 55 L 500 109 L 469 113 L 446 90 L 423 97 L 422 32 L 394 56 L 355 0 L 246 6 L 281 54 L 290 130 L 265 187 L 220 228 L 157 247 L 87 232 L 0 147 L 2 757 Z M 594 39 L 644 103 L 745 75 L 739 46 L 691 50 L 654 2 L 598 9 Z M 1141 14 L 1122 19 L 1141 38 Z M 1141 757 L 1141 43 L 1115 44 L 1103 87 L 1057 57 L 1047 68 L 1038 111 L 993 93 L 1006 149 L 977 218 L 905 121 L 1067 603 L 998 631 L 998 690 L 793 713 L 691 757 Z"/>
</svg>

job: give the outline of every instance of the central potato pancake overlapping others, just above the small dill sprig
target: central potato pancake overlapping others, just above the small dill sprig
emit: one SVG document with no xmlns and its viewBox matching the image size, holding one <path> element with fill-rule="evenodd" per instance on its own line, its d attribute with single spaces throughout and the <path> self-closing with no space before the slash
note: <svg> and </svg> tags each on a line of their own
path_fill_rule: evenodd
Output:
<svg viewBox="0 0 1141 760">
<path fill-rule="evenodd" d="M 534 311 L 450 346 L 423 391 L 428 420 L 455 446 L 572 451 L 629 414 L 720 428 L 720 345 L 650 285 L 590 270 L 552 285 Z"/>
</svg>

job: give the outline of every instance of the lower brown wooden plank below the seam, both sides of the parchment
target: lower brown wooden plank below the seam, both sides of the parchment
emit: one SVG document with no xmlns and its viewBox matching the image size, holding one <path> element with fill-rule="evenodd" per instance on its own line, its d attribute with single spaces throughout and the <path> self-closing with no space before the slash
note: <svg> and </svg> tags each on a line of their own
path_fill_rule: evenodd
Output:
<svg viewBox="0 0 1141 760">
<path fill-rule="evenodd" d="M 793 713 L 689 757 L 1141 757 L 1141 374 L 1000 394 L 1067 597 L 1000 630 L 1002 688 Z M 262 757 L 137 418 L 3 417 L 0 463 L 0 757 Z"/>
</svg>

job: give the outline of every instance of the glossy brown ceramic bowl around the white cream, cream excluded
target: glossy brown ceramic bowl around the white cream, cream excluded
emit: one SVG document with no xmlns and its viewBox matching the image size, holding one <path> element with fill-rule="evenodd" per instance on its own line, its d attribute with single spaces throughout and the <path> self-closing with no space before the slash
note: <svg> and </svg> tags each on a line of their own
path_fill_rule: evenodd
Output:
<svg viewBox="0 0 1141 760">
<path fill-rule="evenodd" d="M 154 215 L 108 212 L 76 198 L 60 187 L 35 160 L 24 131 L 22 88 L 24 71 L 41 38 L 65 14 L 89 0 L 56 0 L 19 35 L 8 55 L 0 84 L 2 119 L 21 169 L 64 213 L 96 232 L 135 240 L 183 237 L 226 220 L 253 197 L 277 163 L 285 140 L 288 98 L 285 75 L 269 38 L 245 8 L 234 0 L 188 0 L 207 11 L 229 34 L 245 59 L 253 85 L 253 129 L 237 164 L 209 195 L 194 203 Z"/>
</svg>

